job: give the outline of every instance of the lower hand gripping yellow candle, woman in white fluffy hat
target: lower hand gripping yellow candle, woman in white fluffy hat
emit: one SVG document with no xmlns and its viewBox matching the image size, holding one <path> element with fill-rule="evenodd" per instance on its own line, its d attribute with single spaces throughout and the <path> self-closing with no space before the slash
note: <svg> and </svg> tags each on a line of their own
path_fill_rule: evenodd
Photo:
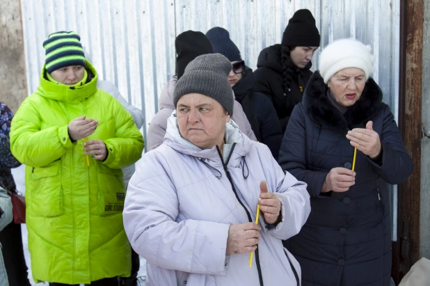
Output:
<svg viewBox="0 0 430 286">
<path fill-rule="evenodd" d="M 333 168 L 326 176 L 321 193 L 348 191 L 353 184 L 356 184 L 356 172 L 347 168 Z"/>
</svg>

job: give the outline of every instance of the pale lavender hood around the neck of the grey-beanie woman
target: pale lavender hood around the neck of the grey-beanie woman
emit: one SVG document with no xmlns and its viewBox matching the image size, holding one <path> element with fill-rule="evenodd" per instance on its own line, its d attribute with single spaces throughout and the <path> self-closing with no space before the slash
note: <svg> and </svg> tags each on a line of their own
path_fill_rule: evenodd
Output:
<svg viewBox="0 0 430 286">
<path fill-rule="evenodd" d="M 211 149 L 200 149 L 190 141 L 182 138 L 179 127 L 177 127 L 176 113 L 173 113 L 167 121 L 166 136 L 164 136 L 164 142 L 170 148 L 182 154 L 190 155 L 193 157 L 212 159 L 214 161 L 219 160 L 218 150 L 216 146 Z M 223 147 L 223 157 L 228 156 L 232 148 L 233 143 L 241 145 L 242 148 L 234 148 L 235 152 L 240 152 L 241 156 L 248 154 L 252 141 L 244 134 L 239 131 L 239 127 L 236 122 L 230 120 L 230 122 L 225 123 L 225 144 Z"/>
</svg>

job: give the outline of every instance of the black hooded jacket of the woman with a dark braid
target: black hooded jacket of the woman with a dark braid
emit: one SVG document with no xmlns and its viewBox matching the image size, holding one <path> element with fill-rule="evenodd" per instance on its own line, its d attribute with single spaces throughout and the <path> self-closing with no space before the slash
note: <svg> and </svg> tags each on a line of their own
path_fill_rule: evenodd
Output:
<svg viewBox="0 0 430 286">
<path fill-rule="evenodd" d="M 295 77 L 293 77 L 293 81 L 289 87 L 290 91 L 284 95 L 280 56 L 280 44 L 266 47 L 266 49 L 260 52 L 257 61 L 258 68 L 254 72 L 254 91 L 269 96 L 273 102 L 273 106 L 275 106 L 276 113 L 278 113 L 283 134 L 294 106 L 302 100 L 303 90 L 312 75 L 312 72 L 309 70 L 312 63 L 309 63 L 303 69 L 295 69 Z"/>
</svg>

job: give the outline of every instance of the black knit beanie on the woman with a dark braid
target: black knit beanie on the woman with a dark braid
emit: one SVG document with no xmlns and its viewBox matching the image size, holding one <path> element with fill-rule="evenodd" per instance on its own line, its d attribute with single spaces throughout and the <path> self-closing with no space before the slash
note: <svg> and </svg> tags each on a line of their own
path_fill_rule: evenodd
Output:
<svg viewBox="0 0 430 286">
<path fill-rule="evenodd" d="M 297 10 L 289 19 L 281 44 L 289 47 L 319 47 L 320 35 L 308 9 Z"/>
</svg>

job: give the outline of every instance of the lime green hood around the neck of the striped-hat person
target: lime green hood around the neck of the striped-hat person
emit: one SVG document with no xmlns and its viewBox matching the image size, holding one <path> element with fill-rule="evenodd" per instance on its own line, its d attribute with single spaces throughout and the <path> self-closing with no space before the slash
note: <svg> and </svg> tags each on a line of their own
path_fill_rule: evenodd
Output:
<svg viewBox="0 0 430 286">
<path fill-rule="evenodd" d="M 86 60 L 86 70 L 88 72 L 88 80 L 83 86 L 65 86 L 63 84 L 54 84 L 49 81 L 45 74 L 47 72 L 43 65 L 42 73 L 40 74 L 40 84 L 38 92 L 42 97 L 50 100 L 58 100 L 61 102 L 74 102 L 75 100 L 82 101 L 90 97 L 97 91 L 97 71 L 93 65 Z"/>
</svg>

